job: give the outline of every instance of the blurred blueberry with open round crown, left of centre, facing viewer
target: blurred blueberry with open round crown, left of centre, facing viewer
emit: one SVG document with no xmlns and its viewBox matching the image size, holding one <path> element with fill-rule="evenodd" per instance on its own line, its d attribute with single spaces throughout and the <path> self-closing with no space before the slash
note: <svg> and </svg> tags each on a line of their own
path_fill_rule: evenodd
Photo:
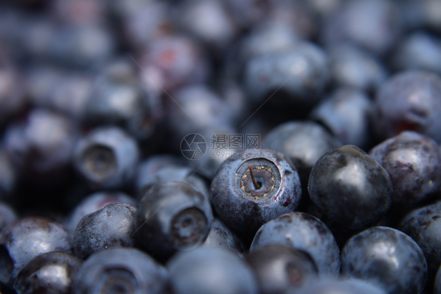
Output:
<svg viewBox="0 0 441 294">
<path fill-rule="evenodd" d="M 74 165 L 94 188 L 119 188 L 134 176 L 136 141 L 119 127 L 98 127 L 79 140 Z"/>
</svg>

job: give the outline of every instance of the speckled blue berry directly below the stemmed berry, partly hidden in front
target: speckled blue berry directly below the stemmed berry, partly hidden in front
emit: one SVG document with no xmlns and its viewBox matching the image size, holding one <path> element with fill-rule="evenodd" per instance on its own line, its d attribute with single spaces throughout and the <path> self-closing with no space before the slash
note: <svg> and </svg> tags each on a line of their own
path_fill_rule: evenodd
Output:
<svg viewBox="0 0 441 294">
<path fill-rule="evenodd" d="M 264 224 L 257 231 L 250 251 L 268 244 L 281 244 L 307 252 L 320 275 L 338 276 L 340 251 L 328 227 L 304 212 L 289 212 Z"/>
</svg>

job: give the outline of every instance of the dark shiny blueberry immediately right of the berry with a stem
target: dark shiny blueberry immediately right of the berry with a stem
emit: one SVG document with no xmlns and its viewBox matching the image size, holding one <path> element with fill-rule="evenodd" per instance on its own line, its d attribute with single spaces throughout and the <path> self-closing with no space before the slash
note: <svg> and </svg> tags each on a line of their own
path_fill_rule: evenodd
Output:
<svg viewBox="0 0 441 294">
<path fill-rule="evenodd" d="M 317 160 L 308 192 L 329 218 L 350 229 L 363 229 L 389 210 L 392 182 L 388 172 L 366 152 L 343 145 Z"/>
</svg>

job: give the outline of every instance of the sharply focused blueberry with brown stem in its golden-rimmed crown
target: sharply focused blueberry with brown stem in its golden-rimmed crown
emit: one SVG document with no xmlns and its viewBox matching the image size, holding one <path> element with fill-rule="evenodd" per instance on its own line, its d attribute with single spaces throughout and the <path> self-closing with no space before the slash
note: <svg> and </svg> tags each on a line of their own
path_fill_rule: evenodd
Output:
<svg viewBox="0 0 441 294">
<path fill-rule="evenodd" d="M 220 166 L 211 182 L 213 207 L 225 224 L 254 234 L 277 215 L 296 209 L 300 179 L 283 153 L 250 149 L 235 157 Z"/>
</svg>

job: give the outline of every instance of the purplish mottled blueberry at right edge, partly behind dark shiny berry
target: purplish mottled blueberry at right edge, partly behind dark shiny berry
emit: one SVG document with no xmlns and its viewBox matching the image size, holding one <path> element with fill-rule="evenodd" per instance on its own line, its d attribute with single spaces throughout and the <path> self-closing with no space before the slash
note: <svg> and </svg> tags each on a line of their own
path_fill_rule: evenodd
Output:
<svg viewBox="0 0 441 294">
<path fill-rule="evenodd" d="M 441 186 L 441 151 L 428 136 L 404 131 L 369 154 L 389 172 L 396 207 L 410 208 Z"/>
</svg>

